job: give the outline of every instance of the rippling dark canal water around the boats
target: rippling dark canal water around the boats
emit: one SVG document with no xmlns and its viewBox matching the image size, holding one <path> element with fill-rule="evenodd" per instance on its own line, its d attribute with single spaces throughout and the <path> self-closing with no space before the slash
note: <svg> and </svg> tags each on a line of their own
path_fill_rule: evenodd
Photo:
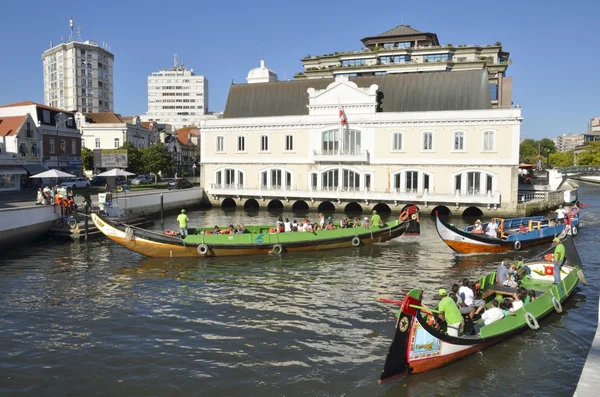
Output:
<svg viewBox="0 0 600 397">
<path fill-rule="evenodd" d="M 576 237 L 589 285 L 562 314 L 384 386 L 377 379 L 397 307 L 376 299 L 422 287 L 433 303 L 438 288 L 491 271 L 503 256 L 456 257 L 429 218 L 420 237 L 281 257 L 152 259 L 104 238 L 9 251 L 0 258 L 0 394 L 570 396 L 600 283 L 600 187 L 582 186 L 580 199 L 591 204 Z M 189 215 L 194 225 L 224 225 L 280 214 Z M 171 218 L 166 228 L 175 228 Z"/>
</svg>

